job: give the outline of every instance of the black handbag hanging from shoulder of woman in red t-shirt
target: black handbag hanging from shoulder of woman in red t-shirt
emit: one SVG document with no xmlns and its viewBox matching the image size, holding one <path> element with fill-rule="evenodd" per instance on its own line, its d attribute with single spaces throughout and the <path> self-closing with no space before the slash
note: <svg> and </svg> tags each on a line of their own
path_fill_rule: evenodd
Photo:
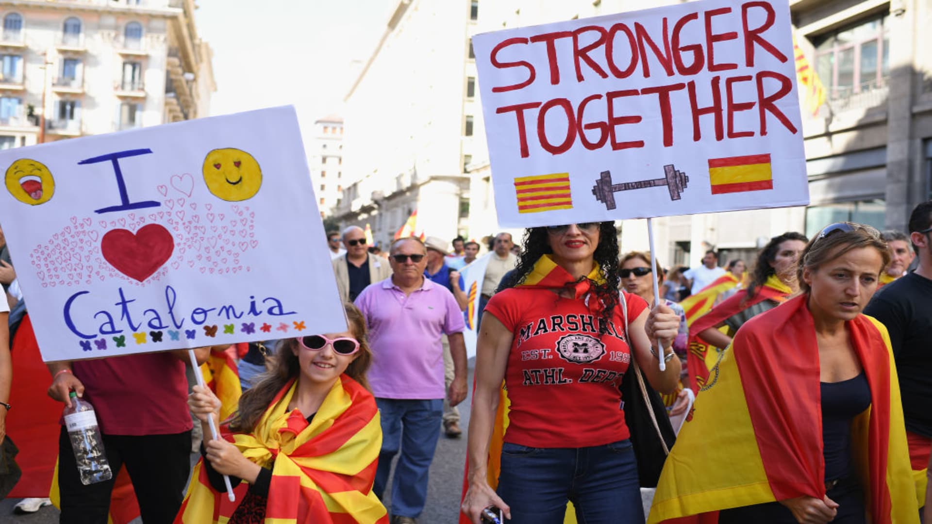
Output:
<svg viewBox="0 0 932 524">
<path fill-rule="evenodd" d="M 621 297 L 624 312 L 624 336 L 628 338 L 628 311 L 624 296 Z M 631 445 L 637 459 L 637 478 L 641 488 L 656 488 L 660 472 L 664 469 L 666 456 L 677 440 L 673 425 L 666 414 L 664 400 L 651 384 L 644 379 L 632 348 L 631 363 L 624 373 L 622 385 L 624 401 L 624 423 L 631 434 Z"/>
</svg>

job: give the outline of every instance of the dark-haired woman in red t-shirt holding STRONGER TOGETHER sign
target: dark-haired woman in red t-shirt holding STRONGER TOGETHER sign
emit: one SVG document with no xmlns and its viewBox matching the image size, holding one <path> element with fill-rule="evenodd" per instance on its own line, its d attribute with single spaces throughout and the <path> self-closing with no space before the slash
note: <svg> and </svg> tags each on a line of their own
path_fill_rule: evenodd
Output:
<svg viewBox="0 0 932 524">
<path fill-rule="evenodd" d="M 581 522 L 644 520 L 618 388 L 632 353 L 655 389 L 676 388 L 671 345 L 679 319 L 665 306 L 649 315 L 644 299 L 619 294 L 617 234 L 612 222 L 528 229 L 514 278 L 488 301 L 462 504 L 474 523 L 490 505 L 512 524 L 560 523 L 568 502 Z M 652 356 L 651 340 L 658 339 L 665 372 Z M 500 476 L 487 479 L 502 380 L 509 422 Z M 498 492 L 489 480 L 498 480 Z"/>
</svg>

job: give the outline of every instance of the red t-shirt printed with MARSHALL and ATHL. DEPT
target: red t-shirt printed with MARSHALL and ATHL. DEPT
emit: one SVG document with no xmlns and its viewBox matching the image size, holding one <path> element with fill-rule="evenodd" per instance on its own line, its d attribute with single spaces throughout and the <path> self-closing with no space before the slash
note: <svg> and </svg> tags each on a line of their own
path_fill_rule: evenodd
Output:
<svg viewBox="0 0 932 524">
<path fill-rule="evenodd" d="M 628 320 L 648 305 L 623 294 Z M 582 299 L 547 289 L 506 289 L 486 311 L 512 333 L 505 369 L 511 407 L 505 442 L 532 448 L 585 448 L 628 438 L 618 387 L 631 361 L 621 305 L 608 333 Z"/>
</svg>

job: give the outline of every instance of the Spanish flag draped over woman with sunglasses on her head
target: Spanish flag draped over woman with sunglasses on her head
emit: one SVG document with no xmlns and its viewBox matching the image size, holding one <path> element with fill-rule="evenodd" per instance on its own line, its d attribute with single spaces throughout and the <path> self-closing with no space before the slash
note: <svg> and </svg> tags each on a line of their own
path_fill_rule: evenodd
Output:
<svg viewBox="0 0 932 524">
<path fill-rule="evenodd" d="M 737 332 L 667 457 L 649 524 L 714 522 L 707 514 L 720 509 L 825 496 L 819 355 L 806 300 L 792 298 Z M 868 521 L 918 523 L 886 328 L 866 315 L 846 328 L 870 385 L 871 405 L 852 423 Z"/>
</svg>

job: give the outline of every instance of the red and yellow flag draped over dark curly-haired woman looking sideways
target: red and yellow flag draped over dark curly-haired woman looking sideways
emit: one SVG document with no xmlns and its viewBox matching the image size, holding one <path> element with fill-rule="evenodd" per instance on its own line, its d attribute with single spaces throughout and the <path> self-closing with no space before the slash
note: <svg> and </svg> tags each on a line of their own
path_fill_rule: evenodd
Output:
<svg viewBox="0 0 932 524">
<path fill-rule="evenodd" d="M 699 334 L 764 300 L 784 302 L 792 293 L 793 290 L 787 284 L 780 282 L 776 275 L 771 275 L 767 278 L 767 282 L 758 288 L 754 296 L 747 297 L 747 289 L 739 289 L 733 296 L 696 319 L 690 325 L 689 350 L 686 352 L 686 369 L 692 393 L 699 394 L 705 387 L 708 382 L 709 369 L 715 366 L 720 356 L 715 348 L 699 338 Z"/>
</svg>

